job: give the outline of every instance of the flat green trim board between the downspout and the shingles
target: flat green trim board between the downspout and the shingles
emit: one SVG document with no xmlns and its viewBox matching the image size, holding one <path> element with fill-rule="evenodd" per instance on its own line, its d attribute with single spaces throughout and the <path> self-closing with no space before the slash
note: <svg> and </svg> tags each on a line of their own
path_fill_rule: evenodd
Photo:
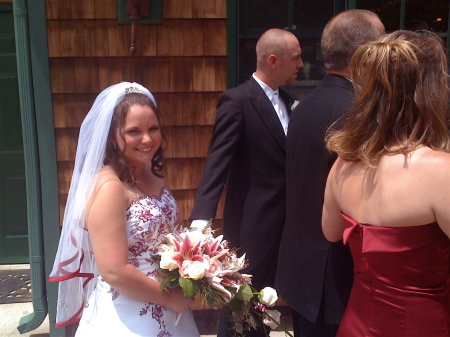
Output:
<svg viewBox="0 0 450 337">
<path fill-rule="evenodd" d="M 56 328 L 56 301 L 58 284 L 47 282 L 47 276 L 53 268 L 53 261 L 58 249 L 59 200 L 58 169 L 56 160 L 56 142 L 53 123 L 53 104 L 50 85 L 50 67 L 47 47 L 47 20 L 45 1 L 28 0 L 28 17 L 30 27 L 31 65 L 33 77 L 33 94 L 36 112 L 37 141 L 39 147 L 39 166 L 41 180 L 41 207 L 43 244 L 45 257 L 45 274 L 41 282 L 47 289 L 50 335 L 65 336 L 65 328 Z"/>
</svg>

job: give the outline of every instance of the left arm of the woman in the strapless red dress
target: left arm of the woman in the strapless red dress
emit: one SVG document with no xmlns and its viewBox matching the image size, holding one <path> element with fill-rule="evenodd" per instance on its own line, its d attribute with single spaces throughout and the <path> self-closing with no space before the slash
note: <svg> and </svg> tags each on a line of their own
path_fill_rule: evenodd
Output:
<svg viewBox="0 0 450 337">
<path fill-rule="evenodd" d="M 336 199 L 336 166 L 338 158 L 328 174 L 327 185 L 325 187 L 324 204 L 322 210 L 322 230 L 328 241 L 336 242 L 342 240 L 344 232 L 344 219 L 341 215 L 341 208 Z"/>
</svg>

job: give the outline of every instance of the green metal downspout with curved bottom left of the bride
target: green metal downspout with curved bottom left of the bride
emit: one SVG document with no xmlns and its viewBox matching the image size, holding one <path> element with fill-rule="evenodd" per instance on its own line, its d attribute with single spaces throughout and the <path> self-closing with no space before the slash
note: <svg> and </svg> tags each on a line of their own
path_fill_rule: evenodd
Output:
<svg viewBox="0 0 450 337">
<path fill-rule="evenodd" d="M 30 45 L 28 43 L 28 8 L 26 0 L 13 2 L 14 30 L 16 39 L 17 74 L 19 80 L 20 112 L 22 117 L 23 150 L 25 160 L 26 196 L 28 210 L 28 242 L 30 250 L 30 273 L 33 284 L 34 312 L 20 319 L 20 333 L 39 327 L 47 316 L 47 299 L 44 273 L 42 240 L 42 210 L 40 204 L 39 158 L 36 120 L 31 74 Z"/>
</svg>

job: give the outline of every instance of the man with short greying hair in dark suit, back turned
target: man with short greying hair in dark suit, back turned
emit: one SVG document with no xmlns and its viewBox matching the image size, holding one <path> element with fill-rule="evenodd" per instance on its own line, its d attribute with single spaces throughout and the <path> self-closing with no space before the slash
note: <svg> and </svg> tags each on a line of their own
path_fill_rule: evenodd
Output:
<svg viewBox="0 0 450 337">
<path fill-rule="evenodd" d="M 286 223 L 276 289 L 292 308 L 294 335 L 334 337 L 350 295 L 353 264 L 348 247 L 322 233 L 323 195 L 336 156 L 325 134 L 345 114 L 354 93 L 349 63 L 356 49 L 384 34 L 379 17 L 347 10 L 326 25 L 321 40 L 326 75 L 293 111 L 286 145 Z"/>
</svg>

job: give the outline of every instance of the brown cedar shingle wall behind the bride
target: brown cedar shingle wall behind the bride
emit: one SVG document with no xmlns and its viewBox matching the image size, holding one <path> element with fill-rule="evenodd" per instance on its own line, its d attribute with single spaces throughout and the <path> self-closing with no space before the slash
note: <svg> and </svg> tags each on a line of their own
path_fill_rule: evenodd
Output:
<svg viewBox="0 0 450 337">
<path fill-rule="evenodd" d="M 139 25 L 135 56 L 117 0 L 46 0 L 46 8 L 61 217 L 83 118 L 100 91 L 135 81 L 166 117 L 167 176 L 187 219 L 226 89 L 226 0 L 163 0 L 163 24 Z"/>
</svg>

